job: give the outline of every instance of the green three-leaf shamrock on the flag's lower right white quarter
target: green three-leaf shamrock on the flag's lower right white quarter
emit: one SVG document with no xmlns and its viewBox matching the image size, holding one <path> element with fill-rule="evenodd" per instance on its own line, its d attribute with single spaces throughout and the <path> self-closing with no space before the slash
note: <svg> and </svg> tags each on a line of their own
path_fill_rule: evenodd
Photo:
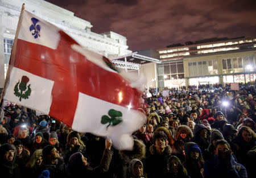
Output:
<svg viewBox="0 0 256 178">
<path fill-rule="evenodd" d="M 106 129 L 108 129 L 108 127 L 110 125 L 112 126 L 116 126 L 118 125 L 118 123 L 121 123 L 122 122 L 122 113 L 120 111 L 117 111 L 117 110 L 114 110 L 114 109 L 110 109 L 109 110 L 109 116 L 110 118 L 108 117 L 108 115 L 103 115 L 101 117 L 101 123 L 102 124 L 106 124 L 106 123 L 109 123 L 109 125 L 106 127 Z"/>
</svg>

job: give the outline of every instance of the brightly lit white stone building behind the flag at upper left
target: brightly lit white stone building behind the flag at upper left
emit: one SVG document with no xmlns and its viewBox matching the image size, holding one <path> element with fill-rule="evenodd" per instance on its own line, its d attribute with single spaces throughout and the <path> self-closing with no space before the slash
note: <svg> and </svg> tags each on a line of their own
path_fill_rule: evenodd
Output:
<svg viewBox="0 0 256 178">
<path fill-rule="evenodd" d="M 78 43 L 106 57 L 131 53 L 126 37 L 115 32 L 96 34 L 90 22 L 77 18 L 73 12 L 43 0 L 0 0 L 0 88 L 3 88 L 7 64 L 13 47 L 22 4 L 30 13 L 61 28 Z"/>
</svg>

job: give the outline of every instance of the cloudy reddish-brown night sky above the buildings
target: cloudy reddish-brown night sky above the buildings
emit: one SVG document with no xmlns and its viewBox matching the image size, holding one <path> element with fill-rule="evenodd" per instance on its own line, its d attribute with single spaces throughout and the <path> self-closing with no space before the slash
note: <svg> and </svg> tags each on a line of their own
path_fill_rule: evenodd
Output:
<svg viewBox="0 0 256 178">
<path fill-rule="evenodd" d="M 47 0 L 101 34 L 117 32 L 132 51 L 208 38 L 256 37 L 255 0 Z"/>
</svg>

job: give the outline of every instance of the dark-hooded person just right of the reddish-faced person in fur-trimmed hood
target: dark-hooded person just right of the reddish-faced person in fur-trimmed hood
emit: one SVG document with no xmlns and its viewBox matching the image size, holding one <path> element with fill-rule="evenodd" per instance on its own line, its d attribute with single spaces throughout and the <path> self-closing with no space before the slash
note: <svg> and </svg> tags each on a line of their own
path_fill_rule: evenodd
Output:
<svg viewBox="0 0 256 178">
<path fill-rule="evenodd" d="M 203 124 L 196 124 L 194 129 L 194 137 L 191 142 L 195 142 L 200 147 L 201 151 L 204 151 L 210 144 L 210 131 Z"/>
</svg>

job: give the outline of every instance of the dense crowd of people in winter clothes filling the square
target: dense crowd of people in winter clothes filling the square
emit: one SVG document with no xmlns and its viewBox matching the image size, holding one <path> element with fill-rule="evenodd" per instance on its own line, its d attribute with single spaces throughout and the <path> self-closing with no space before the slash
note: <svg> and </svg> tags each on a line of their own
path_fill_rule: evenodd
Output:
<svg viewBox="0 0 256 178">
<path fill-rule="evenodd" d="M 254 85 L 190 86 L 148 97 L 133 150 L 34 110 L 0 112 L 1 177 L 255 177 Z"/>
</svg>

